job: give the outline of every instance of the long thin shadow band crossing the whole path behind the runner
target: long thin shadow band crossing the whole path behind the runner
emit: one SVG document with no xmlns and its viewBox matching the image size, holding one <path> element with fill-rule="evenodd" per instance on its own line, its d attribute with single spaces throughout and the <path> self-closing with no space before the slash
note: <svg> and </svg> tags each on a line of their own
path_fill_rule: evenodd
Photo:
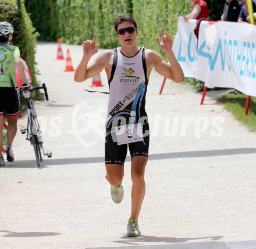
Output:
<svg viewBox="0 0 256 249">
<path fill-rule="evenodd" d="M 162 159 L 175 159 L 175 158 L 201 158 L 209 156 L 227 156 L 227 155 L 243 155 L 243 154 L 255 154 L 256 148 L 234 148 L 226 150 L 211 150 L 211 151 L 184 151 L 184 152 L 170 152 L 161 154 L 152 154 L 149 156 L 149 160 L 162 160 Z M 54 156 L 54 155 L 53 155 Z M 128 157 L 127 162 L 130 161 Z M 68 165 L 68 164 L 91 164 L 91 163 L 104 163 L 103 156 L 88 157 L 88 158 L 59 158 L 59 159 L 45 159 L 42 162 L 42 168 L 47 168 L 49 165 Z M 36 168 L 35 160 L 21 160 L 15 161 L 15 163 L 8 164 L 3 168 Z M 40 168 L 39 168 L 40 169 Z"/>
</svg>

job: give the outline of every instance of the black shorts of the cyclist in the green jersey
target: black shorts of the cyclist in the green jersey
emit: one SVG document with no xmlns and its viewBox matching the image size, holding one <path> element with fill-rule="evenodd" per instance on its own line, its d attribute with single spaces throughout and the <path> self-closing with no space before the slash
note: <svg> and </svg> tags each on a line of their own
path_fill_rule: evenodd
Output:
<svg viewBox="0 0 256 249">
<path fill-rule="evenodd" d="M 0 116 L 15 116 L 19 113 L 19 89 L 14 87 L 0 87 Z"/>
</svg>

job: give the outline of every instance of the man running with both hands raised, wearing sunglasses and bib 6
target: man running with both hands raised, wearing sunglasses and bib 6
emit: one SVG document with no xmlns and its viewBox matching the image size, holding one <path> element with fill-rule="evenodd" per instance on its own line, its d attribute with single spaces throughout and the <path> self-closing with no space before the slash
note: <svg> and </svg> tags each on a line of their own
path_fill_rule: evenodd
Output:
<svg viewBox="0 0 256 249">
<path fill-rule="evenodd" d="M 104 51 L 88 65 L 91 56 L 97 53 L 96 35 L 93 41 L 84 41 L 83 58 L 77 67 L 74 80 L 82 82 L 93 77 L 105 69 L 109 82 L 109 101 L 106 119 L 105 140 L 105 165 L 106 179 L 111 184 L 112 200 L 116 203 L 122 201 L 124 175 L 123 165 L 125 163 L 127 144 L 123 137 L 119 138 L 120 145 L 116 142 L 120 118 L 129 122 L 132 129 L 141 124 L 143 128 L 143 139 L 131 134 L 127 130 L 127 137 L 133 139 L 129 143 L 131 155 L 131 215 L 127 225 L 127 236 L 140 236 L 138 227 L 138 215 L 145 195 L 144 171 L 148 161 L 148 145 L 150 136 L 145 112 L 145 95 L 151 70 L 155 68 L 162 76 L 176 83 L 184 81 L 182 68 L 177 62 L 172 51 L 172 37 L 161 30 L 161 40 L 157 39 L 158 46 L 165 52 L 170 64 L 166 63 L 157 52 L 143 47 L 137 47 L 136 37 L 137 24 L 129 14 L 121 14 L 115 19 L 115 30 L 121 47 Z M 121 125 L 123 125 L 121 123 Z M 119 127 L 120 128 L 120 127 Z M 130 133 L 130 136 L 128 136 Z"/>
</svg>

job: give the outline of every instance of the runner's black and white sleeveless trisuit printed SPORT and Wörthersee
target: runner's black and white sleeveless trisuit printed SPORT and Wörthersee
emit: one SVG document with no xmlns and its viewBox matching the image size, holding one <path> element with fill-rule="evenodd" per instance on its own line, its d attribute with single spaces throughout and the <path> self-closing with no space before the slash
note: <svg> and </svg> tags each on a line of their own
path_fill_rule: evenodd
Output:
<svg viewBox="0 0 256 249">
<path fill-rule="evenodd" d="M 124 117 L 126 124 L 141 123 L 144 141 L 130 143 L 129 150 L 133 156 L 148 156 L 150 143 L 147 113 L 145 112 L 145 96 L 148 79 L 145 63 L 145 48 L 140 48 L 136 55 L 128 57 L 114 49 L 111 78 L 109 79 L 108 112 L 106 118 L 105 163 L 125 163 L 127 144 L 118 145 L 113 141 L 116 119 Z M 118 123 L 119 125 L 120 122 Z M 148 136 L 145 136 L 147 135 Z"/>
</svg>

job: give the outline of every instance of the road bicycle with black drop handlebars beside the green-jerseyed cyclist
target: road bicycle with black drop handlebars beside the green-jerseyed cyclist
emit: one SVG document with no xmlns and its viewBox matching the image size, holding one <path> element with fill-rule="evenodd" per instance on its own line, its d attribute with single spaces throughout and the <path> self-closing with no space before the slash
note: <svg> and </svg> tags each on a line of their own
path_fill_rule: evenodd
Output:
<svg viewBox="0 0 256 249">
<path fill-rule="evenodd" d="M 40 167 L 42 162 L 42 154 L 44 156 L 47 155 L 48 158 L 52 157 L 51 151 L 47 151 L 46 153 L 44 152 L 44 147 L 42 146 L 42 132 L 37 119 L 37 114 L 35 113 L 33 101 L 31 99 L 31 92 L 40 89 L 44 89 L 45 98 L 48 101 L 49 99 L 45 84 L 42 84 L 41 87 L 23 86 L 20 88 L 20 93 L 22 93 L 23 97 L 27 101 L 27 129 L 22 127 L 20 132 L 22 134 L 26 133 L 26 140 L 29 140 L 31 145 L 33 145 L 38 167 Z"/>
</svg>

